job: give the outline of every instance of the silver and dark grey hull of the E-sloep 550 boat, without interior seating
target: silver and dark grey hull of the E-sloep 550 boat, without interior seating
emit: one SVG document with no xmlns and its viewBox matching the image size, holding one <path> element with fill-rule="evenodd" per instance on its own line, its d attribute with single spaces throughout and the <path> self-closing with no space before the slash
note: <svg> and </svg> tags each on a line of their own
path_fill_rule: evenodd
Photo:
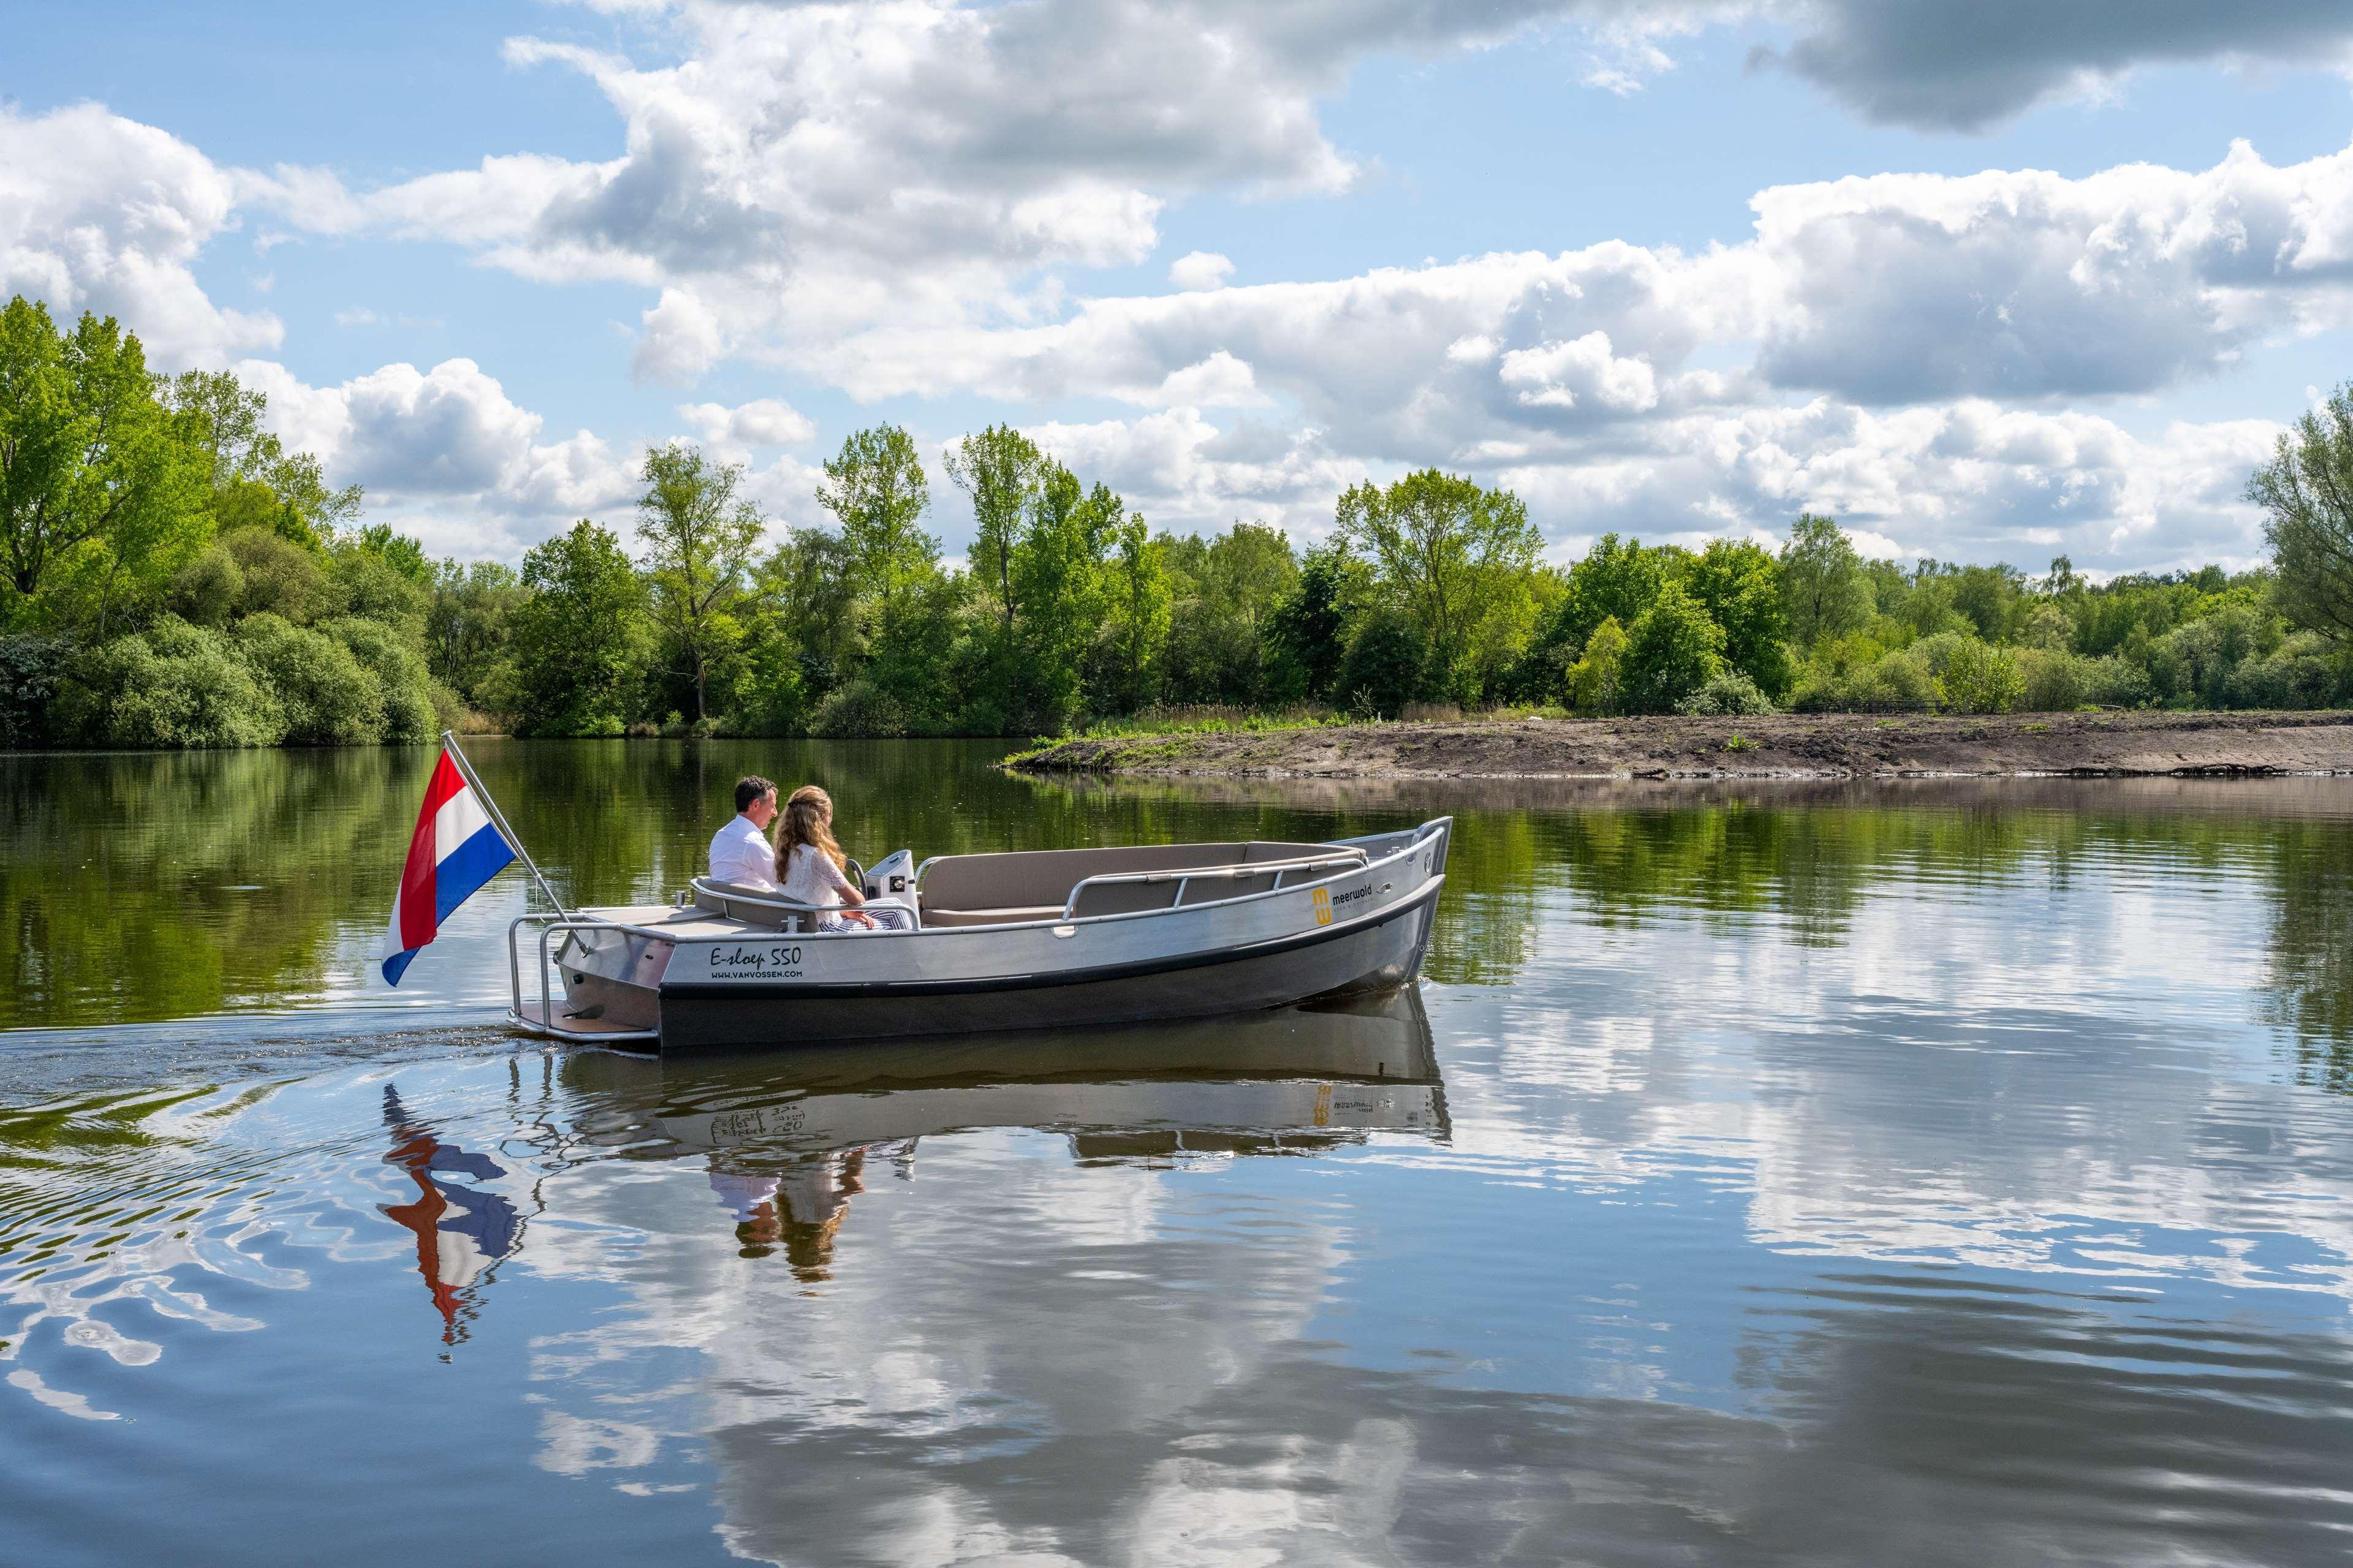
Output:
<svg viewBox="0 0 2353 1568">
<path fill-rule="evenodd" d="M 1315 882 L 1202 903 L 1172 884 L 1165 907 L 1094 917 L 828 933 L 762 924 L 762 905 L 741 896 L 713 898 L 718 912 L 701 900 L 584 910 L 544 924 L 562 999 L 529 1011 L 511 931 L 515 1018 L 558 1039 L 626 1034 L 696 1051 L 1160 1023 L 1393 992 L 1421 971 L 1449 827 L 1438 818 L 1339 842 L 1358 858 Z"/>
</svg>

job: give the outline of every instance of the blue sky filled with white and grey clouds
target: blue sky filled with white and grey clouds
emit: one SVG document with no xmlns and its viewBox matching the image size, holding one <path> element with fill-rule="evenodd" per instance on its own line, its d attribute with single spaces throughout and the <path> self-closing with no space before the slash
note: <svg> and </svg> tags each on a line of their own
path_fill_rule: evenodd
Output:
<svg viewBox="0 0 2353 1568">
<path fill-rule="evenodd" d="M 1176 529 L 1440 465 L 1562 555 L 1812 508 L 2249 562 L 2247 465 L 2353 374 L 2348 49 L 2304 0 L 49 7 L 0 289 L 235 364 L 456 555 L 626 522 L 671 437 L 809 522 L 892 418 Z"/>
</svg>

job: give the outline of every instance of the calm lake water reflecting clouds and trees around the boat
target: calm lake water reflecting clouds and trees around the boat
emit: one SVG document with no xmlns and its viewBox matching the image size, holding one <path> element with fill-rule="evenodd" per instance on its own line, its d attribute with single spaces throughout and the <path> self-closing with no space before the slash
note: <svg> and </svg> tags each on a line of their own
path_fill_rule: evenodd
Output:
<svg viewBox="0 0 2353 1568">
<path fill-rule="evenodd" d="M 482 743 L 569 898 L 1452 811 L 1417 997 L 755 1060 L 369 978 L 431 752 L 0 757 L 5 1563 L 2353 1544 L 2353 780 L 1056 785 Z"/>
</svg>

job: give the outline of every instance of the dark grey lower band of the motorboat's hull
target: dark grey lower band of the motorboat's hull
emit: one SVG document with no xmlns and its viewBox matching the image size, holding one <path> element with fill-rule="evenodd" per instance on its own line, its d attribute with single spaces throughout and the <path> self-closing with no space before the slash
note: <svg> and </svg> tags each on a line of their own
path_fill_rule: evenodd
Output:
<svg viewBox="0 0 2353 1568">
<path fill-rule="evenodd" d="M 1391 992 L 1414 978 L 1431 940 L 1435 884 L 1337 931 L 1259 950 L 1146 959 L 1106 971 L 849 985 L 664 985 L 661 1046 L 904 1039 L 991 1030 L 1059 1030 Z"/>
</svg>

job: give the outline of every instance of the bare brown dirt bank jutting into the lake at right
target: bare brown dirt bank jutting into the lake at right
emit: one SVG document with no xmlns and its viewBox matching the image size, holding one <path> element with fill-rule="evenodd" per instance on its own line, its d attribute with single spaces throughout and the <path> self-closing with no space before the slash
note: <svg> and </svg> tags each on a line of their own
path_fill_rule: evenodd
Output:
<svg viewBox="0 0 2353 1568">
<path fill-rule="evenodd" d="M 1894 778 L 2353 773 L 2353 712 L 1506 719 L 1064 741 L 1031 773 L 1235 778 Z"/>
</svg>

